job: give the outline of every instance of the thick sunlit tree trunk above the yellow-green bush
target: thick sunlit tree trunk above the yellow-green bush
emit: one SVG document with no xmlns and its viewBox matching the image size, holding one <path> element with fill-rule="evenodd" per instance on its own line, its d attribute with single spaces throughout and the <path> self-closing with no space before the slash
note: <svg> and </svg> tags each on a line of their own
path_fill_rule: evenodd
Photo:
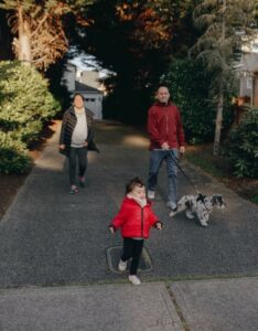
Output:
<svg viewBox="0 0 258 331">
<path fill-rule="evenodd" d="M 24 63 L 25 65 L 31 65 L 31 31 L 30 24 L 24 19 L 22 7 L 18 8 L 18 18 L 19 18 L 19 26 L 18 26 L 18 45 L 17 45 L 17 54 L 18 60 Z"/>
</svg>

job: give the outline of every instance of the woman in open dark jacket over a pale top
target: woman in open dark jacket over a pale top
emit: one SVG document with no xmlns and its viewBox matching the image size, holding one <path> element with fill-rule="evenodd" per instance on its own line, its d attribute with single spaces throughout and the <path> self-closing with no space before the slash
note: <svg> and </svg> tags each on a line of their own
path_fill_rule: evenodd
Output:
<svg viewBox="0 0 258 331">
<path fill-rule="evenodd" d="M 74 96 L 74 105 L 68 108 L 63 117 L 60 151 L 69 159 L 71 194 L 78 193 L 76 185 L 76 166 L 78 161 L 78 181 L 85 186 L 85 172 L 87 169 L 88 150 L 98 151 L 95 146 L 93 130 L 93 113 L 84 107 L 84 97 Z"/>
</svg>

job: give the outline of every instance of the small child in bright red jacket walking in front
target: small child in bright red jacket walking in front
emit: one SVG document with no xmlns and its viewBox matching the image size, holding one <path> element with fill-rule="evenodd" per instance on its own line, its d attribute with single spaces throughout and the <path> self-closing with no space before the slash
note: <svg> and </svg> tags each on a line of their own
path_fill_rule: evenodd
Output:
<svg viewBox="0 0 258 331">
<path fill-rule="evenodd" d="M 127 260 L 132 258 L 129 281 L 140 285 L 137 277 L 143 241 L 149 237 L 151 226 L 162 228 L 162 223 L 151 210 L 151 203 L 146 199 L 146 186 L 139 178 L 133 178 L 126 185 L 126 197 L 122 201 L 119 213 L 114 217 L 109 229 L 115 233 L 120 227 L 123 237 L 123 252 L 118 269 L 125 271 Z"/>
</svg>

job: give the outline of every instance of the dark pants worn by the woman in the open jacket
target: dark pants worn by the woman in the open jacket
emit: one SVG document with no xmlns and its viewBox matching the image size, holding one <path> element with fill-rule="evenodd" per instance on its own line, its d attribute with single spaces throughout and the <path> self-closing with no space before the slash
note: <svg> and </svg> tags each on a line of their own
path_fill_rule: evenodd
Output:
<svg viewBox="0 0 258 331">
<path fill-rule="evenodd" d="M 78 175 L 84 177 L 85 171 L 87 169 L 87 148 L 80 147 L 80 148 L 74 148 L 71 147 L 69 149 L 69 182 L 71 185 L 76 184 L 76 164 L 78 159 Z"/>
</svg>

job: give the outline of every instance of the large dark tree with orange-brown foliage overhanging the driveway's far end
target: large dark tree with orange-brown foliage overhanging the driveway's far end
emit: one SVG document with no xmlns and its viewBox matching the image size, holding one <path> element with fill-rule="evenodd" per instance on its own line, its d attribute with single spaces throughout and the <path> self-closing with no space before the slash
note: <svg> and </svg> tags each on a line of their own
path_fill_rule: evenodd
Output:
<svg viewBox="0 0 258 331">
<path fill-rule="evenodd" d="M 109 116 L 130 122 L 146 121 L 150 96 L 173 53 L 180 14 L 186 14 L 182 3 L 190 2 L 96 1 L 87 11 L 87 29 L 76 25 L 69 36 L 73 43 L 114 73 L 105 82 L 110 92 L 109 107 L 105 107 Z"/>
</svg>

